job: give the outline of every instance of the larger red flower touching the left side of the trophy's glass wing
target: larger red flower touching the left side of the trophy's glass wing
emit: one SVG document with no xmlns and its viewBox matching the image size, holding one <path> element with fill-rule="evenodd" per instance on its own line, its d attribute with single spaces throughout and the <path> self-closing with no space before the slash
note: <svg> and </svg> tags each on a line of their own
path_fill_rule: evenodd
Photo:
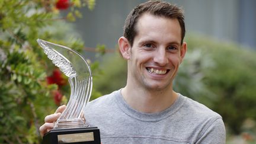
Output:
<svg viewBox="0 0 256 144">
<path fill-rule="evenodd" d="M 67 81 L 59 69 L 55 69 L 51 76 L 47 76 L 47 84 L 66 85 Z"/>
</svg>

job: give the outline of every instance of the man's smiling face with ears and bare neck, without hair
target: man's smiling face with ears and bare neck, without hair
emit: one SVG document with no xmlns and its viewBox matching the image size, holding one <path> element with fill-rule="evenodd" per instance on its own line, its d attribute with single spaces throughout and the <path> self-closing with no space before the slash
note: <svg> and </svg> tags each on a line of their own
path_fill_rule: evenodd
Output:
<svg viewBox="0 0 256 144">
<path fill-rule="evenodd" d="M 136 110 L 156 113 L 177 100 L 172 81 L 185 56 L 187 44 L 181 42 L 177 19 L 149 12 L 138 19 L 133 43 L 126 37 L 119 39 L 120 52 L 128 62 L 127 85 L 121 94 Z"/>
</svg>

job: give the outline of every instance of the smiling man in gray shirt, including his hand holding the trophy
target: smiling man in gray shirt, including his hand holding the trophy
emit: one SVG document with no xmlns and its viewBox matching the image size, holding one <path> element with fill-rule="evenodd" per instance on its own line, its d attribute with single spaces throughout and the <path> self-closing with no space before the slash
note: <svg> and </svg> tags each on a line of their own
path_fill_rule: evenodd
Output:
<svg viewBox="0 0 256 144">
<path fill-rule="evenodd" d="M 161 1 L 128 15 L 119 49 L 127 60 L 126 87 L 91 101 L 85 110 L 103 143 L 225 143 L 222 117 L 172 89 L 187 51 L 182 9 Z M 65 109 L 46 117 L 41 135 Z"/>
</svg>

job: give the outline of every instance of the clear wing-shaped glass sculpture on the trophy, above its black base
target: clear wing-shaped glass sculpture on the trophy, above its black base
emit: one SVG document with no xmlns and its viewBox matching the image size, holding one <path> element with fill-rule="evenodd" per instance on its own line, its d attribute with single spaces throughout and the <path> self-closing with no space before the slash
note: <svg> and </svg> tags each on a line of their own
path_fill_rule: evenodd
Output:
<svg viewBox="0 0 256 144">
<path fill-rule="evenodd" d="M 92 73 L 87 61 L 69 47 L 41 39 L 37 39 L 37 43 L 53 64 L 68 76 L 71 86 L 71 95 L 66 109 L 56 121 L 53 129 L 87 127 L 84 108 L 92 91 Z"/>
</svg>

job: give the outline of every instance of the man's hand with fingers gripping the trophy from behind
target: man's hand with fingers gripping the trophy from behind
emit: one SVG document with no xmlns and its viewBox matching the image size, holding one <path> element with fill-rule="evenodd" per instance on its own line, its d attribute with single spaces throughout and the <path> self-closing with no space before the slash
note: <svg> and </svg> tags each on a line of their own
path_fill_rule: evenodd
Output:
<svg viewBox="0 0 256 144">
<path fill-rule="evenodd" d="M 60 114 L 65 110 L 66 105 L 61 105 L 57 108 L 54 114 L 50 114 L 44 118 L 44 124 L 40 126 L 40 135 L 44 136 L 45 133 L 49 132 L 53 126 L 54 122 L 60 117 Z"/>
</svg>

